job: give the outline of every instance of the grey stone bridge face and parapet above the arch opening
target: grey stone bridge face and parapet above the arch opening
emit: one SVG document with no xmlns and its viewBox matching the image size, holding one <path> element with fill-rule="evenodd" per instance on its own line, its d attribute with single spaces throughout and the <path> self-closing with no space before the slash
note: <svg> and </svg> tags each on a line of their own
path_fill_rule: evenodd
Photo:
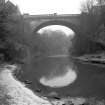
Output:
<svg viewBox="0 0 105 105">
<path fill-rule="evenodd" d="M 24 20 L 29 22 L 33 32 L 49 25 L 63 25 L 75 33 L 81 32 L 80 14 L 70 15 L 24 15 Z"/>
</svg>

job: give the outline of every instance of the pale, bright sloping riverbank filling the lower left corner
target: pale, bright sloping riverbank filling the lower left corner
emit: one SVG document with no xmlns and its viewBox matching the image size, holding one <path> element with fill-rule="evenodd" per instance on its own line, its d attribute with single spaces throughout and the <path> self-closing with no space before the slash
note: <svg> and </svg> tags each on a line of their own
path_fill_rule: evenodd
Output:
<svg viewBox="0 0 105 105">
<path fill-rule="evenodd" d="M 14 65 L 0 68 L 0 105 L 51 105 L 13 76 Z"/>
</svg>

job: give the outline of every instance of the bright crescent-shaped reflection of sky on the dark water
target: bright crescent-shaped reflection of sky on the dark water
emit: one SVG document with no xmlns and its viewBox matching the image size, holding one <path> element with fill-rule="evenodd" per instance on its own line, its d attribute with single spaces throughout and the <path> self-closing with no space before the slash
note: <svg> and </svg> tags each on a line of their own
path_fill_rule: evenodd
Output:
<svg viewBox="0 0 105 105">
<path fill-rule="evenodd" d="M 64 71 L 65 72 L 60 76 L 56 75 L 56 71 L 55 72 L 51 71 L 50 75 L 48 75 L 47 78 L 42 77 L 40 79 L 40 82 L 45 86 L 53 88 L 68 86 L 69 84 L 73 83 L 76 80 L 77 73 L 70 66 L 66 66 Z"/>
</svg>

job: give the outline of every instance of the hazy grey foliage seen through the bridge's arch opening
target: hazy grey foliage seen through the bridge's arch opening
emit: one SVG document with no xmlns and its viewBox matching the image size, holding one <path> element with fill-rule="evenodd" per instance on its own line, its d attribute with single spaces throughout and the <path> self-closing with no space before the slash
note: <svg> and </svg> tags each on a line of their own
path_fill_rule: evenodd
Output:
<svg viewBox="0 0 105 105">
<path fill-rule="evenodd" d="M 35 37 L 35 50 L 44 56 L 63 55 L 70 47 L 70 39 L 62 31 L 44 30 Z M 36 55 L 37 55 L 36 54 Z"/>
</svg>

